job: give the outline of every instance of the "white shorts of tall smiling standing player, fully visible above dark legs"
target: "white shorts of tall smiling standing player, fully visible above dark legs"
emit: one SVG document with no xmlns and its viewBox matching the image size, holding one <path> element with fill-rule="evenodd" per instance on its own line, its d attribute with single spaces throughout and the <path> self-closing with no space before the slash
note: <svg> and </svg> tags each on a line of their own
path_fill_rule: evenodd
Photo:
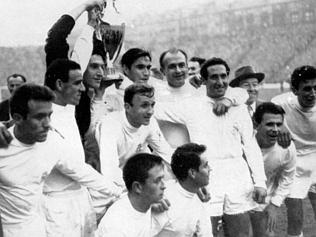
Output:
<svg viewBox="0 0 316 237">
<path fill-rule="evenodd" d="M 254 185 L 249 168 L 242 158 L 220 160 L 210 166 L 210 216 L 241 214 L 258 206 L 252 198 Z"/>
</svg>

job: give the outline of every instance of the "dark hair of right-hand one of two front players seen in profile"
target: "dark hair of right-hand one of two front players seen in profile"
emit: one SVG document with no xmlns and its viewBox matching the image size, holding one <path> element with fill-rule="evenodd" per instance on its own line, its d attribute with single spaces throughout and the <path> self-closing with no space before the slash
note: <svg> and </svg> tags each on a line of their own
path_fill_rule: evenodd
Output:
<svg viewBox="0 0 316 237">
<path fill-rule="evenodd" d="M 178 180 L 185 180 L 190 169 L 199 170 L 200 155 L 205 150 L 206 146 L 196 143 L 187 143 L 175 150 L 171 157 L 171 169 Z"/>
</svg>

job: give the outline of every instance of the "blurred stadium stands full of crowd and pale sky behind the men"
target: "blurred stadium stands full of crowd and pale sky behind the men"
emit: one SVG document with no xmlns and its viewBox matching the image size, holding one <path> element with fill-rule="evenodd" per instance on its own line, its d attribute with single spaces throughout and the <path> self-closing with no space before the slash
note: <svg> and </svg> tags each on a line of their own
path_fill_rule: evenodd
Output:
<svg viewBox="0 0 316 237">
<path fill-rule="evenodd" d="M 43 45 L 52 24 L 83 0 L 1 0 L 0 98 L 6 77 L 24 74 L 42 82 Z M 153 56 L 172 46 L 188 56 L 222 57 L 232 71 L 253 65 L 266 74 L 261 96 L 288 90 L 293 69 L 316 65 L 316 0 L 109 0 L 106 20 L 125 22 L 124 48 L 141 47 Z M 86 22 L 81 16 L 68 41 L 73 45 Z"/>
</svg>

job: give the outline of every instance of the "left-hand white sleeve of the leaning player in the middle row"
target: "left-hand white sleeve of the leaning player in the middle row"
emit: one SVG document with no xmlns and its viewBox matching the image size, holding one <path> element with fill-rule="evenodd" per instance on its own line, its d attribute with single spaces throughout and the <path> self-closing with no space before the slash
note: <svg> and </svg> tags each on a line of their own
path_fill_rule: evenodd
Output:
<svg viewBox="0 0 316 237">
<path fill-rule="evenodd" d="M 116 184 L 124 186 L 117 150 L 119 129 L 113 119 L 103 119 L 96 126 L 95 136 L 100 148 L 101 173 Z"/>
</svg>

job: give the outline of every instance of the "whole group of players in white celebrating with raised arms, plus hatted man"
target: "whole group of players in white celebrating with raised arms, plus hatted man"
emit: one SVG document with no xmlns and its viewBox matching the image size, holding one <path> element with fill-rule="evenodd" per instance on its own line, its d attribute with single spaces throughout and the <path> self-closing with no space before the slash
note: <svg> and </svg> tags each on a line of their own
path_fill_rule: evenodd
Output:
<svg viewBox="0 0 316 237">
<path fill-rule="evenodd" d="M 223 227 L 228 237 L 274 236 L 285 201 L 288 236 L 303 236 L 307 195 L 316 216 L 316 68 L 297 67 L 292 91 L 273 103 L 258 99 L 264 74 L 251 66 L 229 80 L 227 62 L 213 57 L 188 76 L 177 48 L 160 56 L 164 81 L 151 77 L 151 55 L 140 48 L 122 55 L 123 75 L 110 81 L 93 35 L 102 4 L 88 0 L 61 17 L 69 32 L 54 40 L 88 11 L 71 59 L 51 60 L 45 86 L 23 84 L 10 98 L 0 233 L 221 236 Z"/>
</svg>

